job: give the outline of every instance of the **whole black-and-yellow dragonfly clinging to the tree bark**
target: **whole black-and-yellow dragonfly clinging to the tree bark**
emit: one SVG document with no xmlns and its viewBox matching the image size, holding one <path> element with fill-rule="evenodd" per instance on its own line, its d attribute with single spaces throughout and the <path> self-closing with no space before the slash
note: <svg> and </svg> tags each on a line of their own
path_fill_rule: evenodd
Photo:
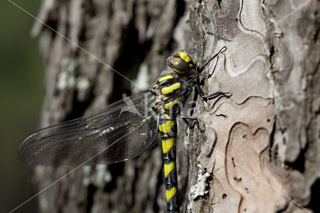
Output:
<svg viewBox="0 0 320 213">
<path fill-rule="evenodd" d="M 167 212 L 179 212 L 176 171 L 176 118 L 192 84 L 206 101 L 229 92 L 204 95 L 196 78 L 209 62 L 224 52 L 222 47 L 203 66 L 184 50 L 166 59 L 171 68 L 146 91 L 124 97 L 93 114 L 41 128 L 23 139 L 18 159 L 33 165 L 94 165 L 123 161 L 150 149 L 160 132 Z M 212 72 L 213 73 L 213 72 Z"/>
</svg>

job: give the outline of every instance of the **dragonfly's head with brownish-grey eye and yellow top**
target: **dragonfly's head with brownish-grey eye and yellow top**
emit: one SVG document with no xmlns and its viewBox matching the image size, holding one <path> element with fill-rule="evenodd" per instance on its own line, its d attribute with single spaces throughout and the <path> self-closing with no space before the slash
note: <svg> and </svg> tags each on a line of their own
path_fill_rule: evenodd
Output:
<svg viewBox="0 0 320 213">
<path fill-rule="evenodd" d="M 178 74 L 187 76 L 196 74 L 196 61 L 186 51 L 179 50 L 175 55 L 168 57 L 166 62 Z"/>
</svg>

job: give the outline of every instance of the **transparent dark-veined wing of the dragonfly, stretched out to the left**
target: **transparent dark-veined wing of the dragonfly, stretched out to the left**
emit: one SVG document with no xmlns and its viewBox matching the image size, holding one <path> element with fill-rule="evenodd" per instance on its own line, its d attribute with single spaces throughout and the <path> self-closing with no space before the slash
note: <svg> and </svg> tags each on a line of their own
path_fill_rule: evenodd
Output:
<svg viewBox="0 0 320 213">
<path fill-rule="evenodd" d="M 39 129 L 22 141 L 18 159 L 37 165 L 92 165 L 135 157 L 154 144 L 154 99 L 148 91 L 137 93 L 94 114 Z"/>
</svg>

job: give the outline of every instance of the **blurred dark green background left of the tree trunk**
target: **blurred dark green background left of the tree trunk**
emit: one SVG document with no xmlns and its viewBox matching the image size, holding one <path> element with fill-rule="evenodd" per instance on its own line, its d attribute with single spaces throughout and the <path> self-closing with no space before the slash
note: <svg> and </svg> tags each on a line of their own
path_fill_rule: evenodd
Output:
<svg viewBox="0 0 320 213">
<path fill-rule="evenodd" d="M 12 2 L 37 16 L 40 0 Z M 0 212 L 9 212 L 36 193 L 32 166 L 20 163 L 17 154 L 21 140 L 38 127 L 44 67 L 38 39 L 30 37 L 35 19 L 7 0 L 0 10 Z M 34 212 L 35 203 L 36 198 L 14 212 Z"/>
</svg>

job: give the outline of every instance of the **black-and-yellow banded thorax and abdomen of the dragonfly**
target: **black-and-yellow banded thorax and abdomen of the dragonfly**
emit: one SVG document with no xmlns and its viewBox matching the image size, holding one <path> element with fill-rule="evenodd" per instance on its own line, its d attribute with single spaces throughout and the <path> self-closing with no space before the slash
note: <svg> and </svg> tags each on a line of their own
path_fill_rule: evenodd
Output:
<svg viewBox="0 0 320 213">
<path fill-rule="evenodd" d="M 185 102 L 184 93 L 187 85 L 174 73 L 160 77 L 155 83 L 158 93 L 162 95 L 159 111 L 159 131 L 162 142 L 162 156 L 165 178 L 165 192 L 168 212 L 179 212 L 179 197 L 176 171 L 176 116 Z M 189 87 L 188 87 L 189 88 Z"/>
</svg>

